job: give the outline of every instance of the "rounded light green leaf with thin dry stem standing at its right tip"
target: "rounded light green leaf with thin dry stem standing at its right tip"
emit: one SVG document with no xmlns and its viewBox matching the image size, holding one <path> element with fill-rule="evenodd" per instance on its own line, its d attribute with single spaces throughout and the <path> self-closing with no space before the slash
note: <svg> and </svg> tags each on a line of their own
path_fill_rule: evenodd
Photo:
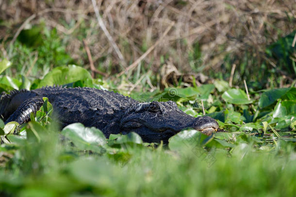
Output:
<svg viewBox="0 0 296 197">
<path fill-rule="evenodd" d="M 226 92 L 224 92 L 222 94 L 222 98 L 226 102 L 231 103 L 231 104 L 235 104 L 235 105 L 250 104 L 253 102 L 252 100 L 248 100 L 247 94 L 245 93 L 245 91 L 243 91 L 241 89 L 227 90 Z"/>
</svg>

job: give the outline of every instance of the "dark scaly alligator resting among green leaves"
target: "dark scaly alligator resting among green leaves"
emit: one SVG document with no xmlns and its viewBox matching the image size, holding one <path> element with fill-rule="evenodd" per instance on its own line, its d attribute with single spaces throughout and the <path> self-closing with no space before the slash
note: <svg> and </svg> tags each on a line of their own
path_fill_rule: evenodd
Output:
<svg viewBox="0 0 296 197">
<path fill-rule="evenodd" d="M 5 124 L 11 121 L 20 125 L 26 123 L 30 121 L 30 114 L 44 104 L 43 97 L 49 99 L 62 127 L 82 123 L 99 128 L 107 138 L 110 134 L 133 131 L 144 142 L 167 143 L 171 136 L 187 127 L 206 135 L 218 128 L 213 118 L 187 115 L 173 101 L 143 103 L 112 91 L 62 86 L 2 92 L 0 116 Z"/>
</svg>

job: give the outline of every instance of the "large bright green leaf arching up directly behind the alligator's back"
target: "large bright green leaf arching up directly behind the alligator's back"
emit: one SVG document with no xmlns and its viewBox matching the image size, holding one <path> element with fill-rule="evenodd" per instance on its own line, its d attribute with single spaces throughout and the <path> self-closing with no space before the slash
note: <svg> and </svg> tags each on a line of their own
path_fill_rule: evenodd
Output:
<svg viewBox="0 0 296 197">
<path fill-rule="evenodd" d="M 90 73 L 84 68 L 75 65 L 60 66 L 47 73 L 39 82 L 38 88 L 63 85 L 84 79 L 92 79 Z"/>
</svg>

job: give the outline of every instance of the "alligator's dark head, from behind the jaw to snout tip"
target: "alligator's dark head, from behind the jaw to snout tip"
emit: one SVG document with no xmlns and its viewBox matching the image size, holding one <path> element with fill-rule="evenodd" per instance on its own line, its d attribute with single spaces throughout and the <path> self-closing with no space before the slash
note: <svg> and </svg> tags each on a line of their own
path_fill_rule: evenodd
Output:
<svg viewBox="0 0 296 197">
<path fill-rule="evenodd" d="M 182 129 L 191 127 L 206 135 L 212 134 L 218 123 L 209 116 L 192 117 L 181 111 L 175 102 L 139 103 L 129 108 L 120 120 L 123 134 L 138 133 L 145 142 L 168 139 Z"/>
</svg>

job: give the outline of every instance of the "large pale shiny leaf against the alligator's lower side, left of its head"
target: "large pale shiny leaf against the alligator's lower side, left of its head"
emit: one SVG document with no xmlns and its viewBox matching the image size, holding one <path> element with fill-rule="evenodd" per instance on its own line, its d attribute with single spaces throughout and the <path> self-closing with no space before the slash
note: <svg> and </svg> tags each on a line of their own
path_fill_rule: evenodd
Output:
<svg viewBox="0 0 296 197">
<path fill-rule="evenodd" d="M 99 129 L 85 127 L 81 123 L 67 125 L 61 133 L 81 150 L 93 150 L 101 153 L 101 147 L 106 145 L 105 135 Z"/>
</svg>

